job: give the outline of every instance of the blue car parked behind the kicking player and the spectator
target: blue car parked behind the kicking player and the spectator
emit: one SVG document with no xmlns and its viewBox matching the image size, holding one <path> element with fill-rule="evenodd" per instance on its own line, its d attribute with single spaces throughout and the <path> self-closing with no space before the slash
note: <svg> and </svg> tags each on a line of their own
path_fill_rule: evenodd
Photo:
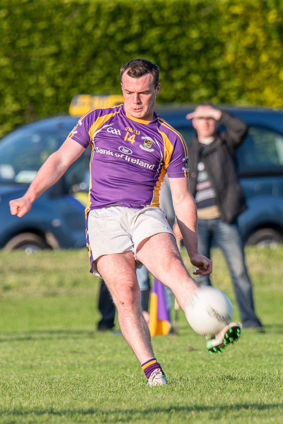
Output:
<svg viewBox="0 0 283 424">
<path fill-rule="evenodd" d="M 264 108 L 228 108 L 244 119 L 249 133 L 237 150 L 238 173 L 248 209 L 239 216 L 246 244 L 283 242 L 283 113 Z M 192 108 L 159 107 L 157 112 L 189 143 Z M 78 117 L 58 116 L 24 125 L 0 141 L 0 248 L 81 248 L 85 240 L 85 204 L 90 148 L 22 218 L 9 212 L 9 200 L 21 197 L 47 157 L 63 143 Z"/>
</svg>

